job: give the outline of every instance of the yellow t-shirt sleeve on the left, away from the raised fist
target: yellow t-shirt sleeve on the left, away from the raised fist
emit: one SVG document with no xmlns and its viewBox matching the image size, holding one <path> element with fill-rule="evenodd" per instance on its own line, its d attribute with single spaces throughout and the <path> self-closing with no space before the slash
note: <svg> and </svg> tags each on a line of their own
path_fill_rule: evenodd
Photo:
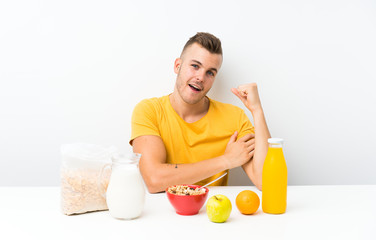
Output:
<svg viewBox="0 0 376 240">
<path fill-rule="evenodd" d="M 132 141 L 139 136 L 160 136 L 157 119 L 158 115 L 155 104 L 150 99 L 139 102 L 132 113 L 132 129 L 129 143 L 132 145 Z"/>
</svg>

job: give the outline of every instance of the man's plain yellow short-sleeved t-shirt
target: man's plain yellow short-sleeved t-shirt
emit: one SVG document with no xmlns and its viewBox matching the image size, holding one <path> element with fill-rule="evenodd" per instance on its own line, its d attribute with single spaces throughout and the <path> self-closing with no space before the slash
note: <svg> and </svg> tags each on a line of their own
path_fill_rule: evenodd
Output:
<svg viewBox="0 0 376 240">
<path fill-rule="evenodd" d="M 218 157 L 224 154 L 235 131 L 238 138 L 254 133 L 254 127 L 244 111 L 231 104 L 210 99 L 207 114 L 194 123 L 185 122 L 172 108 L 169 96 L 139 102 L 133 110 L 131 140 L 144 135 L 162 138 L 167 163 L 184 164 Z M 220 172 L 197 182 L 204 185 L 225 173 Z M 228 174 L 212 183 L 227 185 Z"/>
</svg>

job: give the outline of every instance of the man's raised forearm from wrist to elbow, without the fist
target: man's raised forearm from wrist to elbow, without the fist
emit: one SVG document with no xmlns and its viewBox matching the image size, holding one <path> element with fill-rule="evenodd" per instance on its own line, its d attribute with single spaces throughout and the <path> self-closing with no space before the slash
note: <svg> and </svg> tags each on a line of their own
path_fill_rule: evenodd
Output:
<svg viewBox="0 0 376 240">
<path fill-rule="evenodd" d="M 255 152 L 253 159 L 244 164 L 243 169 L 256 187 L 261 190 L 262 168 L 268 152 L 268 138 L 270 138 L 270 133 L 262 108 L 260 107 L 258 110 L 254 110 L 252 115 L 255 127 Z"/>
</svg>

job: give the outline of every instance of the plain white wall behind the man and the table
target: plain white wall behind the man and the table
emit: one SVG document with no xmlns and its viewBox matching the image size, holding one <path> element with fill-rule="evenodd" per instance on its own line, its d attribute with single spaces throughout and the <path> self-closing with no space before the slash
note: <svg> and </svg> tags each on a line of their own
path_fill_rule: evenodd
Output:
<svg viewBox="0 0 376 240">
<path fill-rule="evenodd" d="M 129 150 L 133 107 L 172 92 L 198 31 L 223 45 L 210 97 L 244 108 L 230 88 L 258 84 L 290 185 L 376 184 L 375 1 L 15 0 L 0 3 L 0 185 L 59 185 L 63 143 Z"/>
</svg>

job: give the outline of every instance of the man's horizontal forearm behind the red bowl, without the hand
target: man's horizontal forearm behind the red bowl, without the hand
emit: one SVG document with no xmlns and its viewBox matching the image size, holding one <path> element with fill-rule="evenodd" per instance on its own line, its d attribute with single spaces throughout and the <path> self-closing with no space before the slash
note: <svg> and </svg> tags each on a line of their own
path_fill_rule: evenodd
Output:
<svg viewBox="0 0 376 240">
<path fill-rule="evenodd" d="M 158 163 L 150 171 L 143 169 L 145 183 L 150 193 L 165 191 L 167 187 L 176 184 L 193 184 L 205 178 L 227 170 L 223 156 L 189 164 Z"/>
</svg>

